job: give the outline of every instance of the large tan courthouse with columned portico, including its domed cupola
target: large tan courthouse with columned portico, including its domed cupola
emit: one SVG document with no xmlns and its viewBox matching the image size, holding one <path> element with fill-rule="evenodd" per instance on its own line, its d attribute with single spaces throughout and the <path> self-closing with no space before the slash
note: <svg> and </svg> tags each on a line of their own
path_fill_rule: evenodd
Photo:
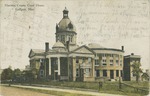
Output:
<svg viewBox="0 0 150 96">
<path fill-rule="evenodd" d="M 62 20 L 56 24 L 56 43 L 52 49 L 31 49 L 30 67 L 39 71 L 39 78 L 49 80 L 95 81 L 122 77 L 124 47 L 105 48 L 99 44 L 77 45 L 75 25 L 63 10 Z"/>
</svg>

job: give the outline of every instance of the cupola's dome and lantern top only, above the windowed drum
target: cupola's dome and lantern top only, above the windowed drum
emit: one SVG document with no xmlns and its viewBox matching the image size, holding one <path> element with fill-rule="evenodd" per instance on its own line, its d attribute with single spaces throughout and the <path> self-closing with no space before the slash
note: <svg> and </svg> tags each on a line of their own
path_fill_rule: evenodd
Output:
<svg viewBox="0 0 150 96">
<path fill-rule="evenodd" d="M 63 10 L 62 20 L 56 24 L 56 32 L 72 31 L 75 32 L 76 28 L 68 17 L 68 9 L 65 7 Z"/>
</svg>

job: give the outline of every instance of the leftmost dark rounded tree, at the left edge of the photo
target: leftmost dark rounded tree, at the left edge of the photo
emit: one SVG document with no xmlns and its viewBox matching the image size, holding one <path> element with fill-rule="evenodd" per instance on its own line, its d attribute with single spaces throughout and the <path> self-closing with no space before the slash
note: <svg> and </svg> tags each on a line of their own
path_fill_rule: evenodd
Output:
<svg viewBox="0 0 150 96">
<path fill-rule="evenodd" d="M 4 81 L 12 80 L 13 77 L 13 70 L 11 68 L 6 68 L 3 70 L 1 74 L 1 79 Z"/>
</svg>

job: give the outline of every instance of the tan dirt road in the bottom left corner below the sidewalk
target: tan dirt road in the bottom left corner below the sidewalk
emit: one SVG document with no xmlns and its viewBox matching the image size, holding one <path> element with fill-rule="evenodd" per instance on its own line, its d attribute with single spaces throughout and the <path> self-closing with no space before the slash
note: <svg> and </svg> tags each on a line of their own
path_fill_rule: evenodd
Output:
<svg viewBox="0 0 150 96">
<path fill-rule="evenodd" d="M 39 93 L 35 91 L 25 90 L 22 88 L 0 86 L 0 96 L 54 96 L 50 94 Z"/>
</svg>

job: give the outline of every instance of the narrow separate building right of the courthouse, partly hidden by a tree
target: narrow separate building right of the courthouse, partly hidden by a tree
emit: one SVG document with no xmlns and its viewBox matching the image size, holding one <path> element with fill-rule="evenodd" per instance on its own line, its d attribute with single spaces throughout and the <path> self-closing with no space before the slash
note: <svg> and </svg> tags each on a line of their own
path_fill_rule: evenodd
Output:
<svg viewBox="0 0 150 96">
<path fill-rule="evenodd" d="M 123 79 L 125 81 L 136 81 L 136 76 L 133 74 L 133 63 L 140 63 L 141 57 L 139 55 L 134 55 L 134 53 L 131 53 L 131 55 L 124 56 L 124 77 Z"/>
</svg>

